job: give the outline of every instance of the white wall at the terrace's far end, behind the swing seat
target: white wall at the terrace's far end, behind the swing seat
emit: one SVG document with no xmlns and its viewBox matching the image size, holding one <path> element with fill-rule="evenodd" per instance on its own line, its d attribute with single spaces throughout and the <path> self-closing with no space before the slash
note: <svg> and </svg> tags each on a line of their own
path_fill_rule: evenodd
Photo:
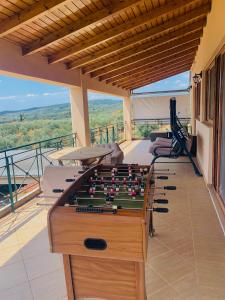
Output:
<svg viewBox="0 0 225 300">
<path fill-rule="evenodd" d="M 154 119 L 169 118 L 170 98 L 173 95 L 166 96 L 149 96 L 138 95 L 132 96 L 132 117 L 133 119 Z M 190 95 L 176 95 L 177 115 L 180 118 L 189 118 L 190 113 Z"/>
</svg>

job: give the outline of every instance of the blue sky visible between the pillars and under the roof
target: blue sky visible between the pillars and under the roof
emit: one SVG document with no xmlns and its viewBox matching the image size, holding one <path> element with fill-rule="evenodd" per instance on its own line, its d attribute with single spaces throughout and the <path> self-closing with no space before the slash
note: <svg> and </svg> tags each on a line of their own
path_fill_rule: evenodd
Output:
<svg viewBox="0 0 225 300">
<path fill-rule="evenodd" d="M 184 89 L 188 87 L 188 81 L 189 72 L 185 72 L 135 91 L 148 92 Z M 94 93 L 89 94 L 89 99 L 91 100 L 106 98 L 112 99 L 114 97 Z M 0 76 L 0 111 L 27 109 L 68 102 L 69 90 L 67 88 L 31 80 Z"/>
</svg>

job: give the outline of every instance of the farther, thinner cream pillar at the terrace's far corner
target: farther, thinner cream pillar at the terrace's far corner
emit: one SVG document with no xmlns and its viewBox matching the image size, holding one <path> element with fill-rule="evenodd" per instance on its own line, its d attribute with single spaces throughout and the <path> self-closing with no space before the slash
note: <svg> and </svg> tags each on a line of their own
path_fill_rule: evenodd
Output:
<svg viewBox="0 0 225 300">
<path fill-rule="evenodd" d="M 123 121 L 125 128 L 125 138 L 127 141 L 132 140 L 132 100 L 131 97 L 123 98 Z"/>
</svg>

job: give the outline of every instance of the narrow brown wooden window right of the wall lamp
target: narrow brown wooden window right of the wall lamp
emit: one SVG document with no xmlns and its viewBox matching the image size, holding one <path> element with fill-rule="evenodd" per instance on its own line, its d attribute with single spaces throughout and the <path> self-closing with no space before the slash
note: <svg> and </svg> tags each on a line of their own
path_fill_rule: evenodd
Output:
<svg viewBox="0 0 225 300">
<path fill-rule="evenodd" d="M 214 103 L 215 103 L 215 84 L 216 84 L 216 68 L 213 65 L 206 71 L 206 121 L 213 121 L 214 119 Z"/>
</svg>

